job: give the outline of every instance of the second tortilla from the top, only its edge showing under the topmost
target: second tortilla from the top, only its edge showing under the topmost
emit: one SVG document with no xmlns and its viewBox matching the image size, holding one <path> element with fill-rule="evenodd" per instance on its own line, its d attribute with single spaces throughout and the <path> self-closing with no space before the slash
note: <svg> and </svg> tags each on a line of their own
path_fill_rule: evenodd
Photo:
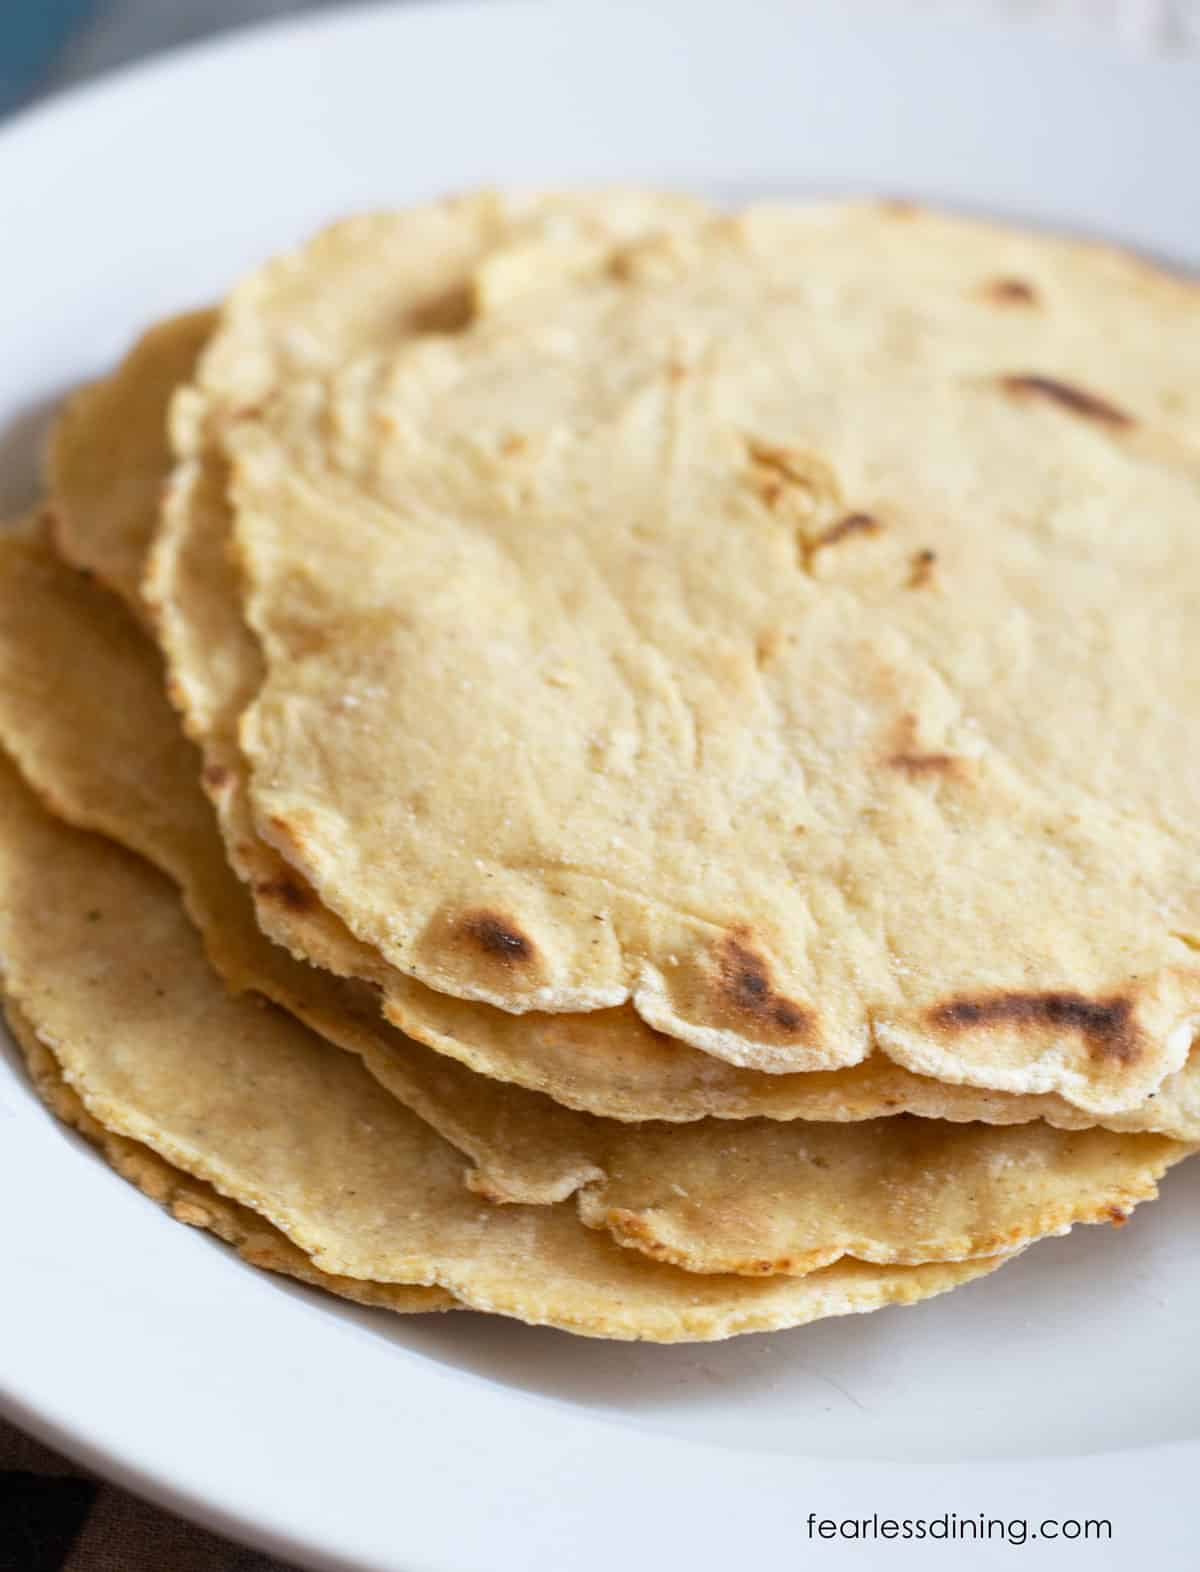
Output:
<svg viewBox="0 0 1200 1572">
<path fill-rule="evenodd" d="M 337 231 L 344 239 L 346 231 Z M 149 365 L 146 357 L 157 355 L 159 363 Z M 113 374 L 113 380 L 146 376 L 160 390 L 157 407 L 134 402 L 132 390 L 116 390 L 109 396 L 96 396 L 87 409 L 98 421 L 98 429 L 77 429 L 77 440 L 90 451 L 102 451 L 118 440 L 118 432 L 109 429 L 110 412 L 137 407 L 140 426 L 127 428 L 123 440 L 131 443 L 135 431 L 142 431 L 143 456 L 135 454 L 134 472 L 145 478 L 146 506 L 156 500 L 165 486 L 165 473 L 154 473 L 149 462 L 162 453 L 162 424 L 165 421 L 165 395 L 170 379 L 193 354 L 192 322 L 181 319 L 171 335 L 170 324 L 148 335 L 145 347 L 137 347 L 126 363 Z M 90 560 L 102 560 L 104 527 L 85 517 L 87 492 L 74 490 L 57 500 L 60 514 L 68 516 L 69 541 L 93 542 Z M 102 520 L 110 514 L 102 509 Z M 340 924 L 316 901 L 304 901 L 304 887 L 289 876 L 286 865 L 253 835 L 241 786 L 241 755 L 233 728 L 242 706 L 248 703 L 260 681 L 260 663 L 253 641 L 245 634 L 236 607 L 236 578 L 225 556 L 225 530 L 228 520 L 223 506 L 222 481 L 208 468 L 184 476 L 176 484 L 168 508 L 167 539 L 162 542 L 157 563 L 157 583 L 165 599 L 164 635 L 175 656 L 176 696 L 192 731 L 204 742 L 209 755 L 209 789 L 217 800 L 222 822 L 230 838 L 233 861 L 244 877 L 258 883 L 258 913 L 263 927 L 282 943 L 300 954 L 311 954 L 326 967 L 340 973 L 357 973 L 376 981 L 384 989 L 385 1008 L 393 1020 L 412 1036 L 439 1049 L 450 1058 L 461 1060 L 484 1074 L 497 1075 L 517 1085 L 546 1091 L 560 1104 L 590 1110 L 610 1118 L 657 1118 L 694 1119 L 703 1115 L 745 1118 L 812 1118 L 812 1119 L 859 1119 L 889 1111 L 912 1111 L 928 1118 L 986 1119 L 1003 1122 L 1046 1118 L 1060 1127 L 1080 1127 L 1090 1122 L 1054 1096 L 1022 1099 L 988 1093 L 977 1088 L 947 1086 L 928 1077 L 914 1075 L 876 1053 L 863 1064 L 838 1072 L 815 1072 L 808 1075 L 764 1077 L 755 1072 L 727 1066 L 651 1031 L 631 1008 L 604 1011 L 588 1016 L 524 1016 L 519 1022 L 489 1009 L 488 1006 L 459 1001 L 436 994 L 412 979 L 385 967 L 368 946 L 357 943 L 344 924 Z M 140 530 L 140 533 L 138 533 Z M 145 528 L 118 528 L 127 538 L 145 545 Z M 63 534 L 58 538 L 61 544 Z M 184 766 L 179 778 L 190 769 Z M 178 799 L 178 791 L 171 792 Z M 149 821 L 153 822 L 153 813 Z M 208 828 L 193 827 L 192 833 L 211 841 Z M 211 857 L 193 857 L 192 866 L 209 866 Z M 220 879 L 223 885 L 225 880 Z M 280 899 L 291 891 L 291 898 Z M 297 904 L 297 898 L 300 904 Z M 220 904 L 214 894 L 209 901 Z M 231 912 L 245 913 L 236 902 Z M 230 916 L 230 921 L 233 918 Z M 206 924 L 220 932 L 219 923 Z M 234 945 L 236 951 L 237 946 Z M 236 956 L 222 960 L 226 975 L 236 975 Z M 296 976 L 302 973 L 296 971 Z M 355 1025 L 338 1022 L 351 1000 L 351 990 L 343 990 L 343 1001 L 335 998 L 330 984 L 318 992 L 324 1000 L 321 1017 L 310 1000 L 304 1009 L 310 1023 L 338 1034 L 365 1031 Z M 351 1017 L 365 1014 L 363 998 L 354 1000 Z M 1189 1064 L 1191 1067 L 1191 1064 Z M 455 1086 L 455 1067 L 442 1066 L 444 1077 Z M 467 1082 L 470 1085 L 470 1082 Z M 410 1093 L 409 1093 L 410 1096 Z M 428 1110 L 426 1116 L 428 1116 Z M 571 1135 L 571 1121 L 554 1115 L 558 1127 L 560 1149 Z M 1131 1115 L 1113 1116 L 1109 1121 L 1118 1129 L 1154 1129 L 1178 1138 L 1195 1138 L 1200 1127 L 1200 1100 L 1186 1069 L 1169 1078 L 1156 1099 Z M 444 1133 L 450 1135 L 444 1126 Z M 455 1137 L 451 1137 L 455 1138 Z M 466 1140 L 459 1129 L 459 1143 Z M 585 1157 L 587 1141 L 576 1133 L 572 1138 L 576 1160 L 571 1174 L 535 1173 L 536 1163 L 521 1163 L 510 1155 L 506 1173 L 492 1163 L 489 1187 L 513 1199 L 561 1198 L 565 1184 L 580 1182 L 590 1163 Z M 527 1151 L 527 1143 L 510 1143 L 511 1152 Z M 478 1149 L 477 1149 L 477 1155 Z"/>
</svg>

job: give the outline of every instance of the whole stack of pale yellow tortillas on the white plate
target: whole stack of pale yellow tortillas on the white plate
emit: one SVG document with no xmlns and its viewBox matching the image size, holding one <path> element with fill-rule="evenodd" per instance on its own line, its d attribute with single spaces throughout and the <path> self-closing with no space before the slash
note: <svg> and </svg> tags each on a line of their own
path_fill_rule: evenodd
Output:
<svg viewBox="0 0 1200 1572">
<path fill-rule="evenodd" d="M 1200 1143 L 1195 286 L 896 204 L 472 196 L 154 327 L 47 489 L 8 1016 L 247 1259 L 720 1338 Z"/>
</svg>

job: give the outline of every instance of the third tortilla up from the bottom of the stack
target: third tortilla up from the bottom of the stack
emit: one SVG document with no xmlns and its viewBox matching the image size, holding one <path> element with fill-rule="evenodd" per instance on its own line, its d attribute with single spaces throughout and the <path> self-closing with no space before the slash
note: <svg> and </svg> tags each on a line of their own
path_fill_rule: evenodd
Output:
<svg viewBox="0 0 1200 1572">
<path fill-rule="evenodd" d="M 1123 1218 L 1186 1151 L 1043 1122 L 615 1124 L 447 1064 L 373 1023 L 370 997 L 355 1000 L 255 929 L 151 646 L 110 594 L 38 539 L 0 545 L 0 740 L 64 817 L 181 883 L 222 976 L 359 1053 L 467 1152 L 477 1192 L 550 1201 L 582 1187 L 588 1225 L 690 1270 L 805 1273 L 845 1253 L 909 1264 L 996 1254 L 1076 1221 Z"/>
</svg>

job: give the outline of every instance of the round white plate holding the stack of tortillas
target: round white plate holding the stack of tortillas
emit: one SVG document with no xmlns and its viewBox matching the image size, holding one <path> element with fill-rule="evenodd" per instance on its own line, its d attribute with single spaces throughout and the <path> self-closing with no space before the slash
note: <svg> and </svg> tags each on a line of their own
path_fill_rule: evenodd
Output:
<svg viewBox="0 0 1200 1572">
<path fill-rule="evenodd" d="M 481 181 L 870 189 L 1200 259 L 1200 74 L 1021 28 L 689 8 L 338 11 L 0 134 L 0 498 L 50 401 L 315 223 Z M 137 935 L 131 934 L 131 943 Z M 1200 1165 L 945 1300 L 701 1349 L 404 1320 L 164 1218 L 0 1060 L 0 1377 L 17 1423 L 313 1567 L 923 1566 L 807 1519 L 1110 1519 L 952 1566 L 1194 1567 Z"/>
</svg>

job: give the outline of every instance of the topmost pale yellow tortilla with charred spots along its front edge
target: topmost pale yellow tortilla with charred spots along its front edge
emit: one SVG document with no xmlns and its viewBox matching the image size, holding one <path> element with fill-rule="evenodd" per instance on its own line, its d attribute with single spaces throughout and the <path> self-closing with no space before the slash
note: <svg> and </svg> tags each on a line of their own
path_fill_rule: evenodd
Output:
<svg viewBox="0 0 1200 1572">
<path fill-rule="evenodd" d="M 1197 292 L 846 208 L 478 296 L 223 429 L 258 830 L 448 994 L 1148 1096 L 1200 1009 Z"/>
</svg>

